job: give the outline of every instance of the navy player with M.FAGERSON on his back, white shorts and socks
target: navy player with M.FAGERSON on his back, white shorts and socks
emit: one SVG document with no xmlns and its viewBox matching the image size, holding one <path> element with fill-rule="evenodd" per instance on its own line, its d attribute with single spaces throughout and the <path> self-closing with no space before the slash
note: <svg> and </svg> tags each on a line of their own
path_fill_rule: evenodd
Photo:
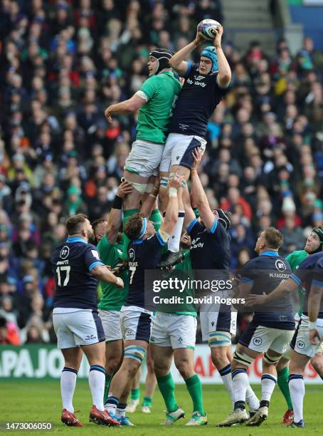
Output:
<svg viewBox="0 0 323 436">
<path fill-rule="evenodd" d="M 251 292 L 270 295 L 282 280 L 288 278 L 291 269 L 278 254 L 282 245 L 282 234 L 268 227 L 257 239 L 255 252 L 258 257 L 248 261 L 241 272 L 238 298 L 244 299 Z M 247 421 L 247 425 L 260 425 L 268 417 L 272 392 L 277 382 L 276 365 L 289 346 L 294 333 L 295 321 L 290 295 L 275 302 L 253 306 L 253 321 L 240 337 L 233 355 L 232 382 L 235 406 L 233 412 L 220 427 L 230 427 Z M 261 378 L 262 396 L 260 408 L 248 419 L 245 410 L 245 389 L 248 385 L 247 370 L 258 355 L 263 356 Z"/>
</svg>

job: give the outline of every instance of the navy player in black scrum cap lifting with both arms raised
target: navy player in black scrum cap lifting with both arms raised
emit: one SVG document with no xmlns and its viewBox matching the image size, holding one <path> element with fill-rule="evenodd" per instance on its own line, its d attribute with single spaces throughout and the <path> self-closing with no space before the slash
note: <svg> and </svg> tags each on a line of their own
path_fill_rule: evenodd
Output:
<svg viewBox="0 0 323 436">
<path fill-rule="evenodd" d="M 202 152 L 194 150 L 194 166 L 191 170 L 191 196 L 198 208 L 201 222 L 196 219 L 187 187 L 184 191 L 185 221 L 187 232 L 191 236 L 191 264 L 194 279 L 226 281 L 229 268 L 230 241 L 228 229 L 231 227 L 231 214 L 222 209 L 212 210 L 198 177 L 198 165 Z M 198 270 L 201 275 L 198 276 Z M 208 271 L 206 271 L 208 270 Z M 220 295 L 221 294 L 221 295 Z M 227 290 L 218 291 L 218 296 L 229 296 Z M 235 333 L 236 311 L 226 304 L 201 303 L 200 321 L 203 341 L 208 341 L 213 364 L 218 369 L 231 399 L 233 388 L 231 381 L 231 334 Z M 248 405 L 251 410 L 259 407 L 259 401 L 248 386 Z"/>
</svg>

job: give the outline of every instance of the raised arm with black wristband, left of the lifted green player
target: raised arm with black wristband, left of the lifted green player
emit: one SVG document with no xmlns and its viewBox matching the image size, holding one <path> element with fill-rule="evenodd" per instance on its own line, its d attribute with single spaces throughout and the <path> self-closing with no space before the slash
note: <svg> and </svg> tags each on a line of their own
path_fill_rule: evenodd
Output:
<svg viewBox="0 0 323 436">
<path fill-rule="evenodd" d="M 110 244 L 115 244 L 117 241 L 117 235 L 122 222 L 122 199 L 125 198 L 127 194 L 131 194 L 133 188 L 132 185 L 125 180 L 122 182 L 115 195 L 115 200 L 112 204 L 112 209 L 107 219 L 106 236 Z"/>
</svg>

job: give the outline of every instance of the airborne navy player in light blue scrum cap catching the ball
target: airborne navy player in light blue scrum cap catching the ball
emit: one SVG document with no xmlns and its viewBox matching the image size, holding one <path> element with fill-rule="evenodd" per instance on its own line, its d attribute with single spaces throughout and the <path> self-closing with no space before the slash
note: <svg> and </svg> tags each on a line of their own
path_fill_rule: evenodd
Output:
<svg viewBox="0 0 323 436">
<path fill-rule="evenodd" d="M 213 110 L 228 92 L 231 81 L 231 68 L 221 48 L 223 27 L 219 26 L 213 46 L 201 52 L 199 63 L 185 61 L 195 48 L 205 42 L 197 33 L 193 42 L 181 48 L 171 57 L 169 64 L 185 78 L 174 113 L 169 123 L 169 135 L 166 140 L 162 162 L 159 167 L 161 189 L 159 190 L 160 209 L 166 210 L 167 197 L 165 187 L 168 177 L 179 170 L 185 180 L 189 178 L 193 157 L 191 152 L 199 147 L 204 152 L 206 147 L 206 127 Z M 179 211 L 181 212 L 181 211 Z M 179 225 L 169 239 L 169 252 L 163 257 L 161 266 L 174 264 L 181 258 L 179 239 L 183 218 L 179 217 Z"/>
</svg>

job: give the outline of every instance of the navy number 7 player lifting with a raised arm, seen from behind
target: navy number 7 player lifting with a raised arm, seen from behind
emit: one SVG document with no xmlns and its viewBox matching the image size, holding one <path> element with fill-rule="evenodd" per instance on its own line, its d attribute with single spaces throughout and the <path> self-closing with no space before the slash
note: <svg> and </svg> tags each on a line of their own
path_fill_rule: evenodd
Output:
<svg viewBox="0 0 323 436">
<path fill-rule="evenodd" d="M 162 227 L 155 232 L 154 225 L 142 214 L 129 218 L 124 232 L 132 241 L 128 248 L 129 291 L 120 320 L 125 344 L 125 355 L 120 369 L 112 378 L 105 408 L 114 416 L 120 397 L 129 394 L 134 375 L 142 364 L 150 340 L 152 312 L 145 308 L 144 274 L 146 269 L 156 269 L 162 257 L 162 249 L 169 239 L 178 215 L 178 195 L 181 195 L 182 177 L 169 180 L 169 204 Z M 179 194 L 178 194 L 179 193 Z M 126 395 L 127 396 L 127 395 Z"/>
</svg>

